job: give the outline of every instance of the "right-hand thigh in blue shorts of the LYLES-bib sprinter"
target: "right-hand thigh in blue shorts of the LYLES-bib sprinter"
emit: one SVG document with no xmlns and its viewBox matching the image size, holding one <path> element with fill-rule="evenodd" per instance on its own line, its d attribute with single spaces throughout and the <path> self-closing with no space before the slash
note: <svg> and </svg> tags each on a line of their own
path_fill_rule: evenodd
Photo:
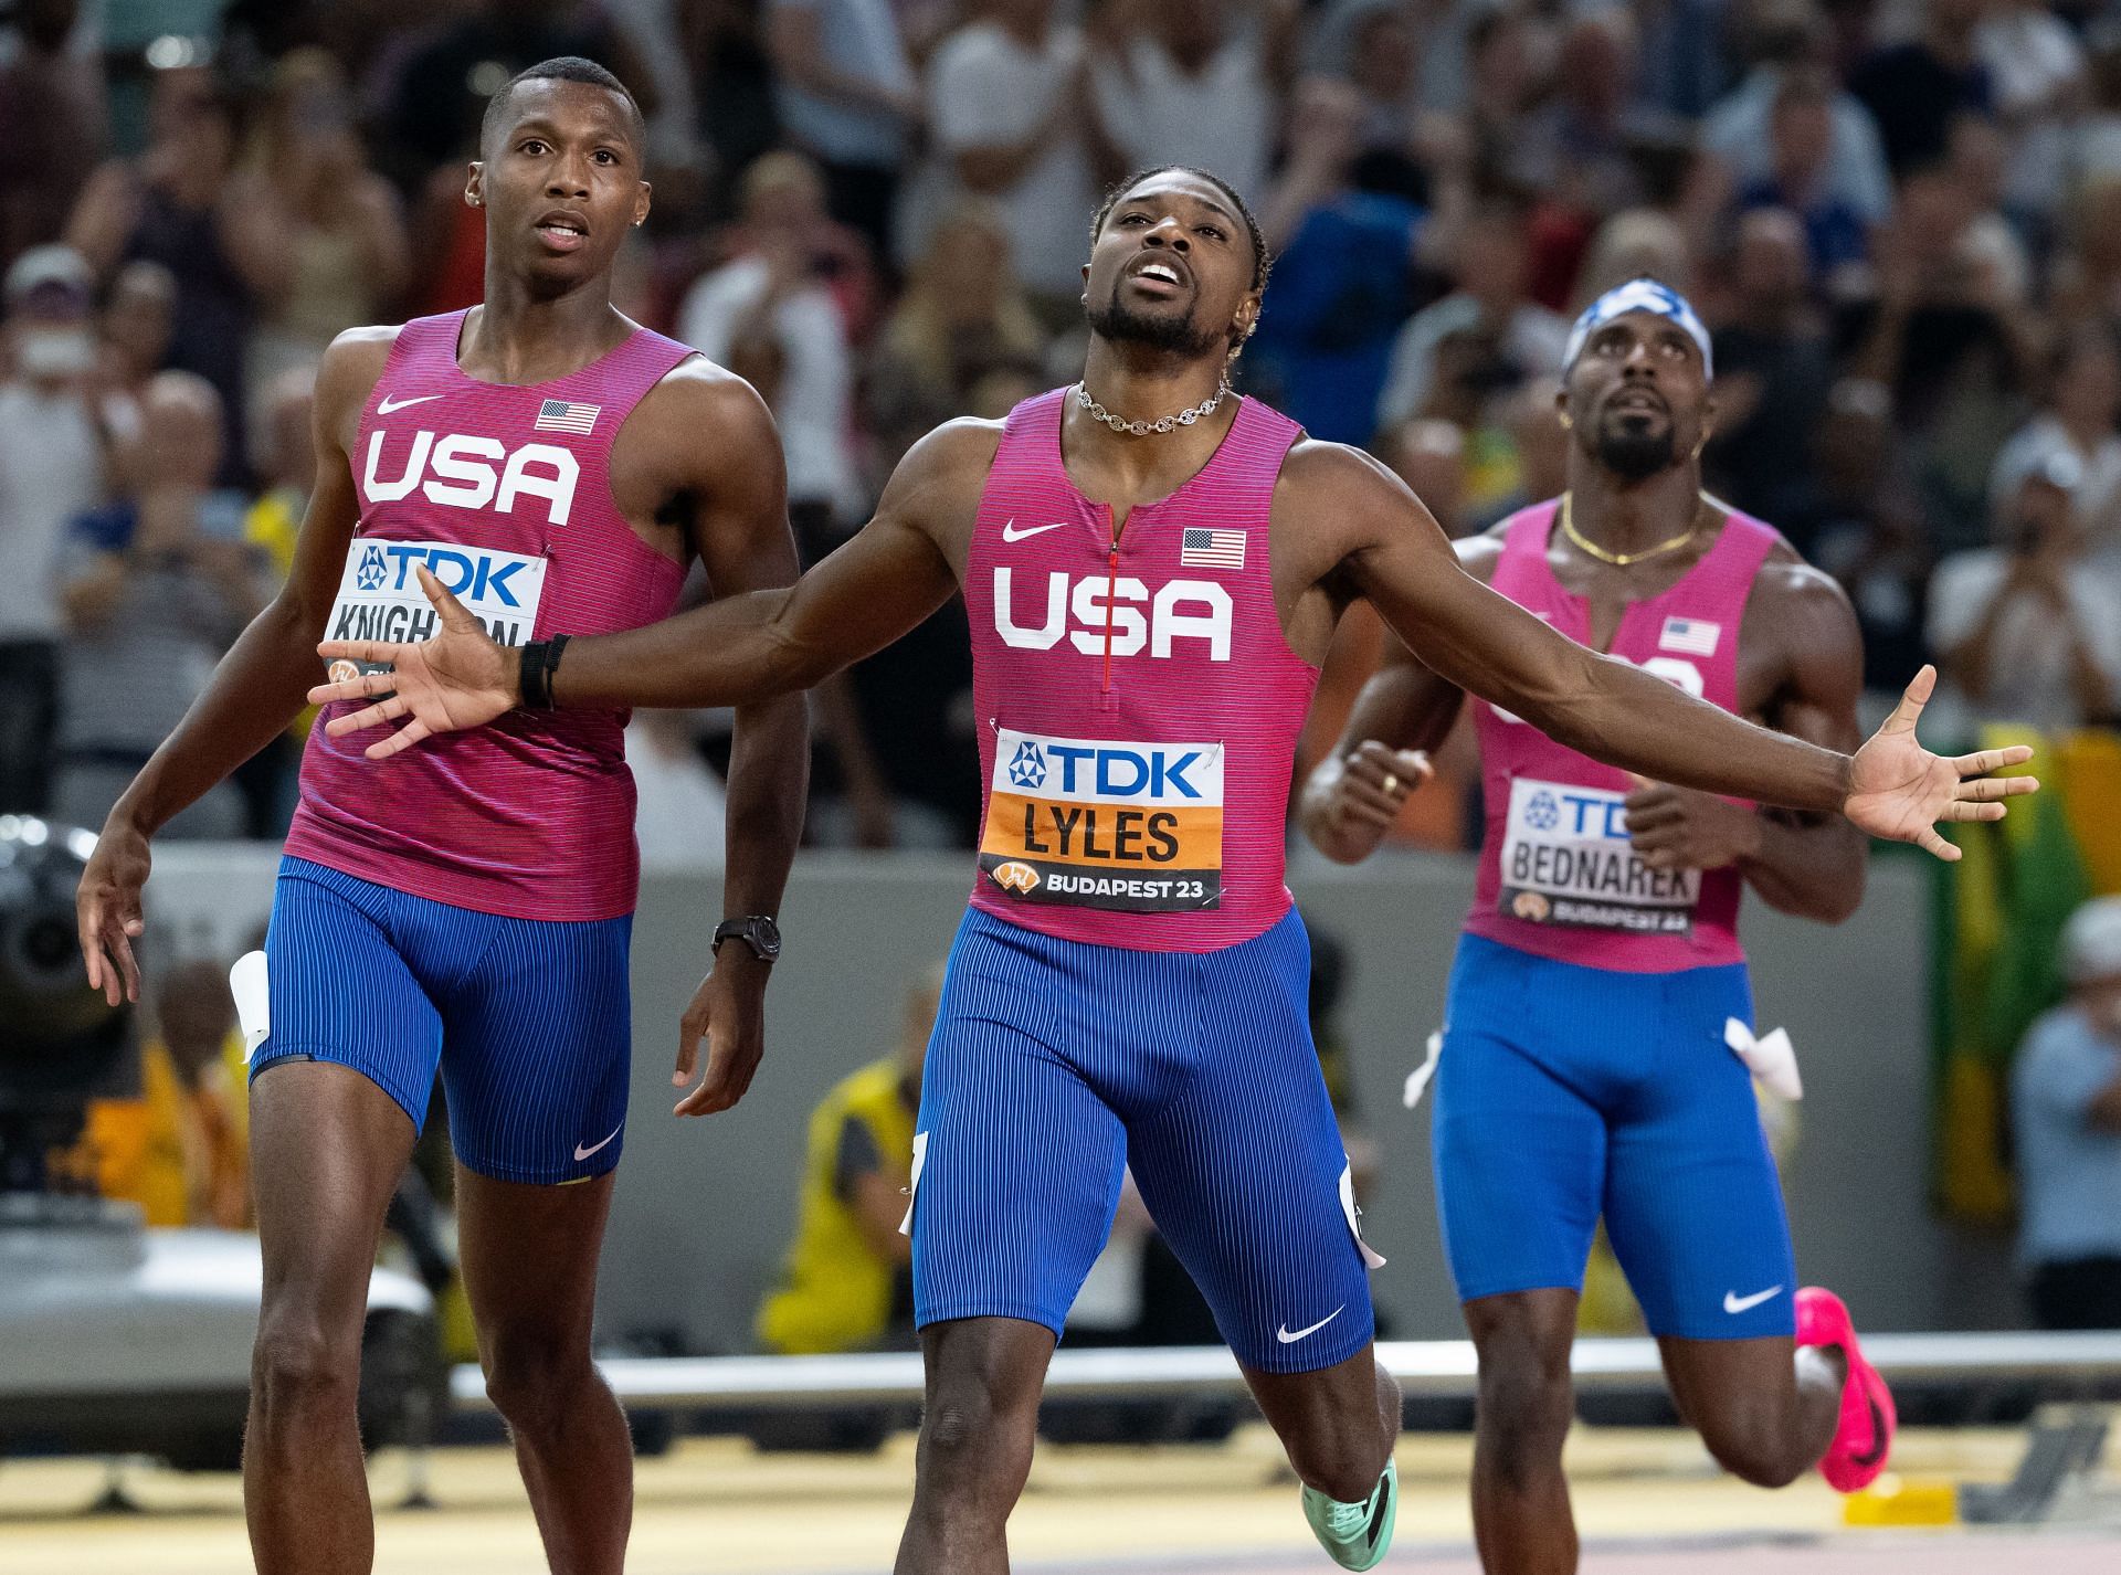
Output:
<svg viewBox="0 0 2121 1575">
<path fill-rule="evenodd" d="M 1128 1113 L 1141 1202 L 1237 1359 L 1258 1374 L 1332 1367 L 1370 1344 L 1370 1274 L 1347 1151 L 1311 1043 L 1311 948 L 1290 912 L 1209 954 L 1194 1064 Z"/>
</svg>

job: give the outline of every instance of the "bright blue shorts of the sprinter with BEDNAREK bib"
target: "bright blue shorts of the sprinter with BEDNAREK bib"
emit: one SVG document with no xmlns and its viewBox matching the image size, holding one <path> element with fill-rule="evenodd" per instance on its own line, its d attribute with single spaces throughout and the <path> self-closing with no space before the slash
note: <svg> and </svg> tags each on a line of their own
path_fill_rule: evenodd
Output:
<svg viewBox="0 0 2121 1575">
<path fill-rule="evenodd" d="M 1582 1291 L 1599 1213 L 1650 1331 L 1796 1329 L 1743 965 L 1618 973 L 1459 937 L 1436 1062 L 1436 1200 L 1461 1302 Z"/>
</svg>

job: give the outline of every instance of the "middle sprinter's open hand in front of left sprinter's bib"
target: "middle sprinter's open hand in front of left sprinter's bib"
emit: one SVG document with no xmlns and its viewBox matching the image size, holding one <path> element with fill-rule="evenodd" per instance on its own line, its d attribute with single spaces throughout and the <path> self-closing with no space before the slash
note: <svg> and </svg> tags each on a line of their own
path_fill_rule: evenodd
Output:
<svg viewBox="0 0 2121 1575">
<path fill-rule="evenodd" d="M 420 589 L 441 615 L 441 627 L 431 640 L 420 644 L 390 644 L 388 640 L 325 640 L 316 653 L 325 661 L 386 661 L 388 672 L 363 672 L 335 683 L 320 683 L 310 691 L 312 706 L 333 700 L 386 700 L 333 716 L 325 731 L 333 738 L 358 733 L 367 727 L 382 727 L 399 719 L 409 719 L 403 727 L 378 738 L 363 753 L 371 761 L 386 761 L 399 750 L 411 748 L 422 738 L 435 733 L 456 733 L 464 727 L 481 727 L 505 710 L 513 710 L 518 670 L 515 653 L 486 632 L 471 608 L 443 589 L 426 564 L 414 570 Z"/>
</svg>

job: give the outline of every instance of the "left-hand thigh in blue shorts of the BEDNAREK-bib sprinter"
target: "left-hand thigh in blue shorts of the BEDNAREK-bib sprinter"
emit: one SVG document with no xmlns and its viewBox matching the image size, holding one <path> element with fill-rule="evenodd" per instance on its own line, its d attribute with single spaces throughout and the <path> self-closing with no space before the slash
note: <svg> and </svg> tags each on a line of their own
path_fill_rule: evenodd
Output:
<svg viewBox="0 0 2121 1575">
<path fill-rule="evenodd" d="M 1589 1013 L 1567 975 L 1463 937 L 1436 1062 L 1436 1208 L 1459 1302 L 1582 1291 L 1606 1183 L 1606 1117 L 1572 1075 Z"/>
</svg>

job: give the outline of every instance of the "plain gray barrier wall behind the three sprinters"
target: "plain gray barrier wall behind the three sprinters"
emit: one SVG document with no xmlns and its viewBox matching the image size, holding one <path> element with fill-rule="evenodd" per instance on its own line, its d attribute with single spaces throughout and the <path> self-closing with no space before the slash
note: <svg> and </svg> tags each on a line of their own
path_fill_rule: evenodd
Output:
<svg viewBox="0 0 2121 1575">
<path fill-rule="evenodd" d="M 151 888 L 157 939 L 233 954 L 269 905 L 261 850 L 170 848 Z M 1841 928 L 1754 905 L 1763 1028 L 1788 1026 L 1805 1075 L 1788 1172 L 1799 1268 L 1841 1289 L 1875 1329 L 2006 1327 L 2009 1246 L 1945 1229 L 1928 1172 L 1930 871 L 1875 861 Z M 963 914 L 969 861 L 808 854 L 789 886 L 789 945 L 768 1001 L 768 1060 L 728 1115 L 674 1121 L 677 1020 L 721 914 L 713 878 L 651 875 L 634 928 L 634 1104 L 604 1249 L 607 1331 L 677 1329 L 698 1350 L 740 1350 L 795 1210 L 804 1123 L 846 1070 L 884 1054 L 918 969 Z M 1377 1299 L 1400 1338 L 1459 1333 L 1436 1234 L 1427 1109 L 1400 1087 L 1442 1020 L 1444 973 L 1472 863 L 1400 856 L 1360 869 L 1300 863 L 1307 916 L 1349 952 L 1343 1026 L 1362 1119 L 1385 1153 L 1366 1236 L 1389 1261 Z"/>
</svg>

